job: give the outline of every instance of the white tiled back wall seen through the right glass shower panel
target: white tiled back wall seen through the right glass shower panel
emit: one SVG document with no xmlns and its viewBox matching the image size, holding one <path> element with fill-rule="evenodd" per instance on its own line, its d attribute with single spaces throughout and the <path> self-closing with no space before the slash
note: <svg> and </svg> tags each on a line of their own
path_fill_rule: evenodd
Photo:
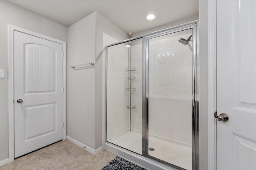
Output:
<svg viewBox="0 0 256 170">
<path fill-rule="evenodd" d="M 178 42 L 190 35 L 150 39 L 148 127 L 152 135 L 192 145 L 192 51 Z M 175 57 L 158 57 L 167 53 Z"/>
</svg>

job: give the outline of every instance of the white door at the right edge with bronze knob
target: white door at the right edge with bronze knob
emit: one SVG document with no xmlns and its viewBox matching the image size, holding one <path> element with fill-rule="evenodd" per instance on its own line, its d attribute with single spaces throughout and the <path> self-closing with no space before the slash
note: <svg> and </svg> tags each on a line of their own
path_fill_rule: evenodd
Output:
<svg viewBox="0 0 256 170">
<path fill-rule="evenodd" d="M 217 0 L 217 170 L 256 170 L 256 0 Z M 222 120 L 220 117 L 219 120 Z"/>
</svg>

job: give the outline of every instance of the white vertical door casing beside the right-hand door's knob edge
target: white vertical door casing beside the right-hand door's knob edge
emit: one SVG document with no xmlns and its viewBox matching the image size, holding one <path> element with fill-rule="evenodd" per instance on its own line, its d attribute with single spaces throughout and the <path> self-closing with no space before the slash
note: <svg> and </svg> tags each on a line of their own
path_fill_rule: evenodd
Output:
<svg viewBox="0 0 256 170">
<path fill-rule="evenodd" d="M 216 170 L 217 133 L 217 0 L 207 4 L 208 12 L 208 170 Z"/>
</svg>

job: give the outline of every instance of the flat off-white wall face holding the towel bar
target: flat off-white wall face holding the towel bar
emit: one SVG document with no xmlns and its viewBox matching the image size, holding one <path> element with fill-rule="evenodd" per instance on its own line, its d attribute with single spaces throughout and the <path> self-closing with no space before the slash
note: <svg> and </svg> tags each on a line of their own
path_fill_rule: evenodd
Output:
<svg viewBox="0 0 256 170">
<path fill-rule="evenodd" d="M 70 66 L 95 62 L 95 30 L 95 13 L 68 27 L 66 70 L 67 135 L 94 149 L 95 68 L 74 70 Z"/>
</svg>

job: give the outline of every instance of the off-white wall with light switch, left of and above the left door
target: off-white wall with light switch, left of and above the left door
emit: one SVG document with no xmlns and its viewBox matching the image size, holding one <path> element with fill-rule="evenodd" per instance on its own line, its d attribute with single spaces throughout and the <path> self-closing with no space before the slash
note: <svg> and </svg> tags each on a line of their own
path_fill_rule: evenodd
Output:
<svg viewBox="0 0 256 170">
<path fill-rule="evenodd" d="M 8 24 L 67 41 L 67 27 L 0 0 L 0 160 L 8 158 Z"/>
</svg>

